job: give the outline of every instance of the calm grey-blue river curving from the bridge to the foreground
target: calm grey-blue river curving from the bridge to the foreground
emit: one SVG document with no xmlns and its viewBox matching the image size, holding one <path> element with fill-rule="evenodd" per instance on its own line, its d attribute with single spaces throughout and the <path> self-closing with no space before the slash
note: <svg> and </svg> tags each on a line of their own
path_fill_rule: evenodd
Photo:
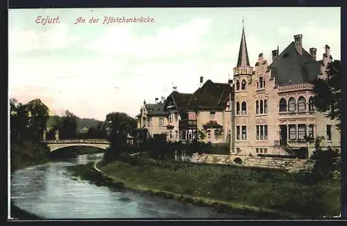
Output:
<svg viewBox="0 0 347 226">
<path fill-rule="evenodd" d="M 116 191 L 71 178 L 67 166 L 96 161 L 102 155 L 79 155 L 67 161 L 17 170 L 11 175 L 11 201 L 20 209 L 49 219 L 248 218 L 128 189 Z"/>
</svg>

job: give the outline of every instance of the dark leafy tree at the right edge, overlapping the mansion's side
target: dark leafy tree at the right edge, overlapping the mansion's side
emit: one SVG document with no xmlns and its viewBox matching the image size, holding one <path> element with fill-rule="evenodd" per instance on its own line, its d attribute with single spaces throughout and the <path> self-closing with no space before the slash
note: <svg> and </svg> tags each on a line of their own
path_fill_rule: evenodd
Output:
<svg viewBox="0 0 347 226">
<path fill-rule="evenodd" d="M 319 112 L 325 113 L 331 120 L 339 120 L 337 128 L 341 129 L 341 106 L 343 86 L 341 75 L 341 62 L 334 60 L 327 66 L 327 79 L 314 81 L 314 104 Z"/>
</svg>

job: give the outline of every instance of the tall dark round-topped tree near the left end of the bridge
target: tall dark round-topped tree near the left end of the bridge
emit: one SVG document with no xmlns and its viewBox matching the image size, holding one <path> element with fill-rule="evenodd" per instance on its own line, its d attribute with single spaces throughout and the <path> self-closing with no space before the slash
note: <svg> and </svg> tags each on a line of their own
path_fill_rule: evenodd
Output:
<svg viewBox="0 0 347 226">
<path fill-rule="evenodd" d="M 33 99 L 26 104 L 29 118 L 28 127 L 33 140 L 42 140 L 49 118 L 49 108 L 40 99 Z"/>
</svg>

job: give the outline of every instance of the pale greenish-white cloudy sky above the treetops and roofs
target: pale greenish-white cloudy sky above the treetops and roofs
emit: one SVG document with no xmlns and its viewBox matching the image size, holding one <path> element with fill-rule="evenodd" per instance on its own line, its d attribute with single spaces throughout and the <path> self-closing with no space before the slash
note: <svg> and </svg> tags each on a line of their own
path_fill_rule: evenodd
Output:
<svg viewBox="0 0 347 226">
<path fill-rule="evenodd" d="M 37 23 L 39 16 L 59 17 L 59 23 Z M 85 23 L 75 24 L 78 17 Z M 112 23 L 110 17 L 152 20 Z M 10 9 L 9 97 L 21 103 L 39 98 L 51 115 L 69 110 L 105 120 L 119 111 L 135 117 L 144 100 L 167 97 L 173 86 L 194 92 L 200 76 L 227 83 L 242 19 L 254 66 L 260 53 L 271 61 L 271 51 L 284 50 L 296 34 L 303 35 L 304 49 L 317 49 L 317 60 L 325 45 L 339 60 L 340 18 L 340 8 Z"/>
</svg>

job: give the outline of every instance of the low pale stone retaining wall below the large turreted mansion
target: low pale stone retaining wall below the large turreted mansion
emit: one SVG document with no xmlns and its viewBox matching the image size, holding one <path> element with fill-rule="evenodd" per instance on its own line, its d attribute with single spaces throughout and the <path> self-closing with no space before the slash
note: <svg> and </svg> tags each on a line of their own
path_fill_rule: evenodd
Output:
<svg viewBox="0 0 347 226">
<path fill-rule="evenodd" d="M 241 159 L 242 163 L 235 163 L 235 159 Z M 305 160 L 303 159 L 282 159 L 259 156 L 238 156 L 221 154 L 193 154 L 192 161 L 195 163 L 217 163 L 232 164 L 237 166 L 278 168 L 288 171 L 297 171 L 303 168 Z"/>
</svg>

